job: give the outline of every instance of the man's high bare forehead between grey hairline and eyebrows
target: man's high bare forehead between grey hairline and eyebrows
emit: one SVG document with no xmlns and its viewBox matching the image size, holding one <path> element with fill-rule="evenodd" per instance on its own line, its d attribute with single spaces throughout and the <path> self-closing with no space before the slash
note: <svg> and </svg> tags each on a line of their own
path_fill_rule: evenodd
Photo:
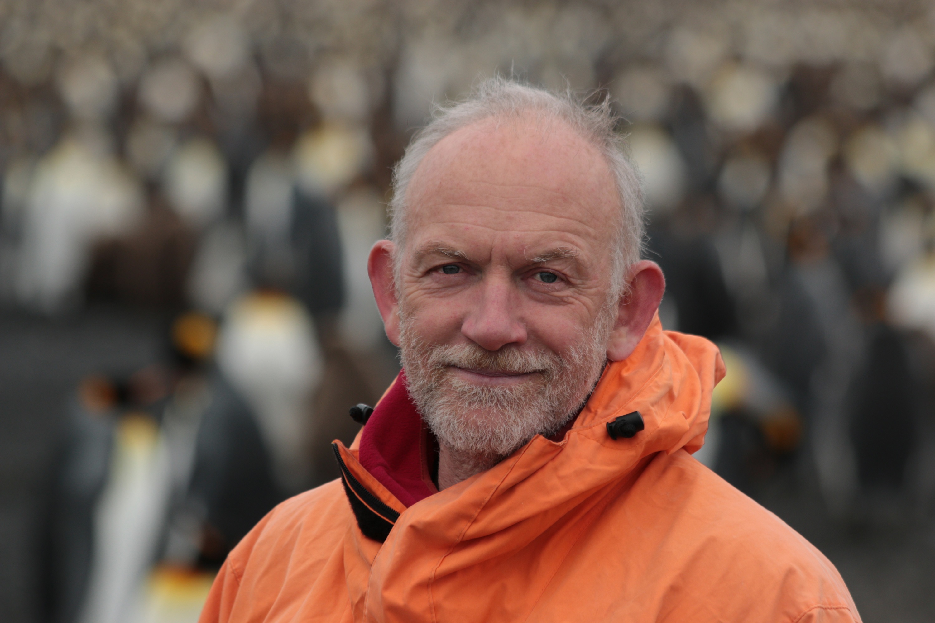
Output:
<svg viewBox="0 0 935 623">
<path fill-rule="evenodd" d="M 446 136 L 408 192 L 413 242 L 510 233 L 530 244 L 610 248 L 620 218 L 602 154 L 564 121 L 535 114 L 482 120 Z"/>
</svg>

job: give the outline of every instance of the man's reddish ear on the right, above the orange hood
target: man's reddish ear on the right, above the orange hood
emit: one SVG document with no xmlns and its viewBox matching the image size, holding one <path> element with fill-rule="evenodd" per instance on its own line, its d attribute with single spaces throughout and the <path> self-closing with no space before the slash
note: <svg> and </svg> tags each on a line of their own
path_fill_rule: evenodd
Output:
<svg viewBox="0 0 935 623">
<path fill-rule="evenodd" d="M 649 260 L 633 264 L 627 281 L 629 294 L 620 299 L 617 323 L 607 347 L 607 358 L 611 361 L 623 361 L 630 356 L 653 321 L 666 291 L 666 277 L 662 275 L 662 269 L 659 264 Z"/>
</svg>

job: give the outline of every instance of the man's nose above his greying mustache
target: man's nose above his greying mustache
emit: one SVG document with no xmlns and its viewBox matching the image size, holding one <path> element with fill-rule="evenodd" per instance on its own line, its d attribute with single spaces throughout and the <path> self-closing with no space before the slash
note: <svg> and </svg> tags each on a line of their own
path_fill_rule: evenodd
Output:
<svg viewBox="0 0 935 623">
<path fill-rule="evenodd" d="M 509 277 L 485 276 L 473 305 L 461 324 L 461 333 L 485 350 L 499 350 L 526 341 L 525 324 L 518 318 L 518 290 Z"/>
</svg>

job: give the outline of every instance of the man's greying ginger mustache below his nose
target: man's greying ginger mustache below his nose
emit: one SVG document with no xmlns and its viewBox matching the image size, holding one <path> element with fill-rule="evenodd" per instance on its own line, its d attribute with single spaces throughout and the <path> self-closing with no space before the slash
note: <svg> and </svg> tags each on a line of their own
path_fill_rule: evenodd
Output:
<svg viewBox="0 0 935 623">
<path fill-rule="evenodd" d="M 427 363 L 435 370 L 456 367 L 508 375 L 552 375 L 564 367 L 561 358 L 551 352 L 517 347 L 490 351 L 476 344 L 432 348 Z"/>
</svg>

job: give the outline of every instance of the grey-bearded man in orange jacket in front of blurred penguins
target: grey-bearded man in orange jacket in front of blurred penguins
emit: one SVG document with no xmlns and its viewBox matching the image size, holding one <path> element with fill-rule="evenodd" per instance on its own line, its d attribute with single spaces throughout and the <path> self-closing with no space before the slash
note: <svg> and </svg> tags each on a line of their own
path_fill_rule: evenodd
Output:
<svg viewBox="0 0 935 623">
<path fill-rule="evenodd" d="M 858 621 L 831 563 L 693 459 L 725 374 L 664 332 L 610 106 L 505 79 L 396 168 L 369 271 L 403 372 L 202 621 Z"/>
</svg>

